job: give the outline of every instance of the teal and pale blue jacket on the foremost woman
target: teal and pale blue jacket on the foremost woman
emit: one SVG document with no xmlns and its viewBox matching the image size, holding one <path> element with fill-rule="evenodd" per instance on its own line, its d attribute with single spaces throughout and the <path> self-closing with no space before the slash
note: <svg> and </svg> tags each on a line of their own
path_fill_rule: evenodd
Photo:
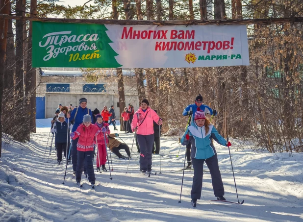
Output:
<svg viewBox="0 0 303 222">
<path fill-rule="evenodd" d="M 181 144 L 187 145 L 186 134 L 189 135 L 189 141 L 192 143 L 191 157 L 196 159 L 208 159 L 217 154 L 212 140 L 214 139 L 218 144 L 226 146 L 227 141 L 218 133 L 217 129 L 213 125 L 209 125 L 209 130 L 205 134 L 205 127 L 199 127 L 194 123 L 188 126 L 185 131 Z"/>
</svg>

